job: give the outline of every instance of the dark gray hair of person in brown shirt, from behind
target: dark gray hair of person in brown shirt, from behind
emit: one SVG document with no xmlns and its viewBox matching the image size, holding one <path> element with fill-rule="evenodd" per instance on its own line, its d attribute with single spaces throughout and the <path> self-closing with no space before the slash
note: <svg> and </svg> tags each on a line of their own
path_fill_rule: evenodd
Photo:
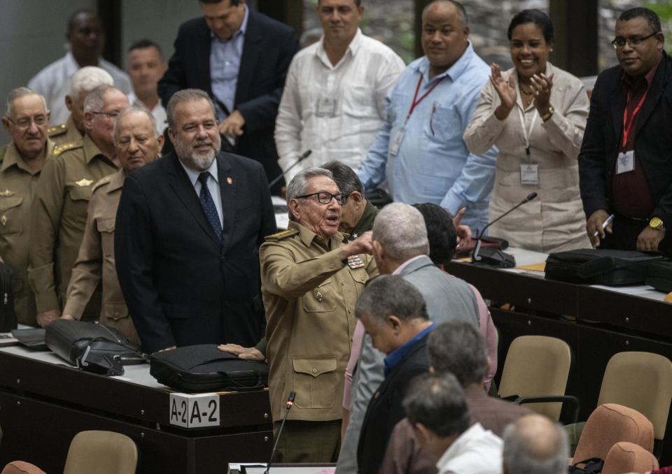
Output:
<svg viewBox="0 0 672 474">
<path fill-rule="evenodd" d="M 455 375 L 463 387 L 482 384 L 488 366 L 485 341 L 470 322 L 440 324 L 429 335 L 427 353 L 435 371 Z"/>
</svg>

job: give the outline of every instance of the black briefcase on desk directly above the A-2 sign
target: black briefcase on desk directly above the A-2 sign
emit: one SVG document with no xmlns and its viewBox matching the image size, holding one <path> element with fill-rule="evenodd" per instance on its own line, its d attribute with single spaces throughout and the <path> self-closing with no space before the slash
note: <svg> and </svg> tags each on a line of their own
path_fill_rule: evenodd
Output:
<svg viewBox="0 0 672 474">
<path fill-rule="evenodd" d="M 240 359 L 214 344 L 155 352 L 149 373 L 163 385 L 187 392 L 244 392 L 268 385 L 268 364 Z"/>
</svg>

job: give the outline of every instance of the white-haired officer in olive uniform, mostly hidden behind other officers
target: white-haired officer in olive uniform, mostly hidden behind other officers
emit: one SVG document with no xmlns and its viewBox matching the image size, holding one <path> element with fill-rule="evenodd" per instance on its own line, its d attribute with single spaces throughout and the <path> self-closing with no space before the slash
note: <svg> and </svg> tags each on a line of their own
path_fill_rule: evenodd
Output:
<svg viewBox="0 0 672 474">
<path fill-rule="evenodd" d="M 114 80 L 110 73 L 97 66 L 85 66 L 79 69 L 70 78 L 70 92 L 65 96 L 65 106 L 70 115 L 65 123 L 49 127 L 47 133 L 55 143 L 55 153 L 84 138 L 84 101 L 96 87 L 113 85 Z"/>
</svg>

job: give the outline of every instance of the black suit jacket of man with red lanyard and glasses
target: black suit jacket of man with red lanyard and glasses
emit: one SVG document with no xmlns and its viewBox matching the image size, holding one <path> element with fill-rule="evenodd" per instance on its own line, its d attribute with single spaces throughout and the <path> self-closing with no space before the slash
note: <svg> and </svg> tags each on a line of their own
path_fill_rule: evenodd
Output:
<svg viewBox="0 0 672 474">
<path fill-rule="evenodd" d="M 623 132 L 626 91 L 623 69 L 615 66 L 597 78 L 579 154 L 581 199 L 586 217 L 611 213 L 611 185 Z M 652 216 L 672 227 L 672 59 L 663 57 L 637 118 L 635 154 L 646 175 Z"/>
</svg>

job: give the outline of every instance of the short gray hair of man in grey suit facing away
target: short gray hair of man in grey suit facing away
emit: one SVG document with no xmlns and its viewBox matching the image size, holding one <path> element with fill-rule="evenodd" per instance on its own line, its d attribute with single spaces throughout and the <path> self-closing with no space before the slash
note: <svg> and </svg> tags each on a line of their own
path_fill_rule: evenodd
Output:
<svg viewBox="0 0 672 474">
<path fill-rule="evenodd" d="M 385 206 L 373 222 L 377 240 L 391 259 L 406 261 L 429 253 L 425 220 L 419 210 L 403 203 Z"/>
</svg>

